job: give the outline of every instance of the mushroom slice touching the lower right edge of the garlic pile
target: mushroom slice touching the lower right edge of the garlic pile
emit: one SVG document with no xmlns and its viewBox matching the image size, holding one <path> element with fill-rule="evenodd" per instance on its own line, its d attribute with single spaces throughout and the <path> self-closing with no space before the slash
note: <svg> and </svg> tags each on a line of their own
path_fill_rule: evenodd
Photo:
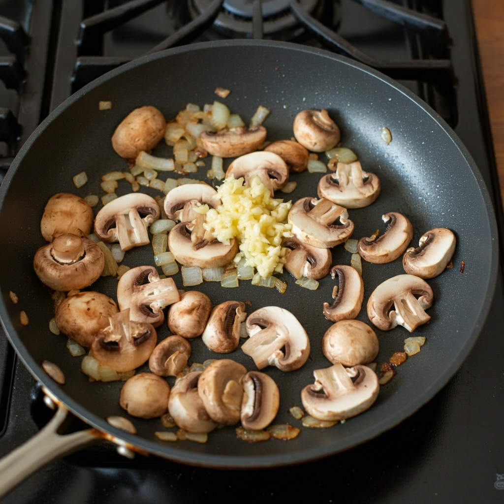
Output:
<svg viewBox="0 0 504 504">
<path fill-rule="evenodd" d="M 329 248 L 307 245 L 299 241 L 295 236 L 283 238 L 282 246 L 288 249 L 284 256 L 284 268 L 296 280 L 302 277 L 319 280 L 329 273 L 333 262 L 333 256 Z"/>
</svg>

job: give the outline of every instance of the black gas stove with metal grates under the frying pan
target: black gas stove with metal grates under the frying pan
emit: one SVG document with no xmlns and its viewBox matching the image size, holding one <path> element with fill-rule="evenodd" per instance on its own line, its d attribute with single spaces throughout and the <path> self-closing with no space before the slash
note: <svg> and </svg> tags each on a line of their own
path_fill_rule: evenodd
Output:
<svg viewBox="0 0 504 504">
<path fill-rule="evenodd" d="M 149 52 L 222 38 L 327 48 L 380 70 L 451 125 L 481 170 L 504 228 L 468 0 L 0 0 L 0 177 L 57 105 Z M 502 236 L 502 233 L 501 233 Z M 500 502 L 504 493 L 502 271 L 481 336 L 459 371 L 400 425 L 298 467 L 220 471 L 100 444 L 53 462 L 2 503 Z M 0 456 L 50 418 L 40 388 L 0 334 Z"/>
</svg>

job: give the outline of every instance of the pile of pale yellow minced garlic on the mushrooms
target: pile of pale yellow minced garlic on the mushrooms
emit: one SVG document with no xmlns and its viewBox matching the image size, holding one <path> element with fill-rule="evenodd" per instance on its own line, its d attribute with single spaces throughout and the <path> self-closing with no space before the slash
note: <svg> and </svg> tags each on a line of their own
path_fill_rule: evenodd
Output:
<svg viewBox="0 0 504 504">
<path fill-rule="evenodd" d="M 292 226 L 286 223 L 292 204 L 272 198 L 259 176 L 251 177 L 249 184 L 245 187 L 242 177 L 226 178 L 217 187 L 222 205 L 206 212 L 203 226 L 222 243 L 238 238 L 240 252 L 235 262 L 244 257 L 247 266 L 254 266 L 266 278 L 283 271 L 287 249 L 281 242 L 292 236 Z"/>
</svg>

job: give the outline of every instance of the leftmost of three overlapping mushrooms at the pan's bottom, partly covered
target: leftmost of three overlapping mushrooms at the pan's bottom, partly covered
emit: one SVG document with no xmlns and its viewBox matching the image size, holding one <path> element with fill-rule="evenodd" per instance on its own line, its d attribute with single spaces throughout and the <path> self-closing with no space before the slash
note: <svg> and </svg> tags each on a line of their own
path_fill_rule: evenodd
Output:
<svg viewBox="0 0 504 504">
<path fill-rule="evenodd" d="M 217 424 L 208 416 L 198 394 L 198 382 L 203 371 L 193 371 L 177 378 L 168 399 L 168 411 L 175 423 L 187 432 L 207 433 Z"/>
</svg>

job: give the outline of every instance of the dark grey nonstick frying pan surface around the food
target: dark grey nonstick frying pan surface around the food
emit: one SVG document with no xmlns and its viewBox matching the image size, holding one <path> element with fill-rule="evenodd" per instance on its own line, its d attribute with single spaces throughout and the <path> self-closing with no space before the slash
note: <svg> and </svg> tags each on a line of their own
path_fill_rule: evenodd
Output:
<svg viewBox="0 0 504 504">
<path fill-rule="evenodd" d="M 343 145 L 357 153 L 364 170 L 377 174 L 382 181 L 382 193 L 375 203 L 349 212 L 355 223 L 353 237 L 370 236 L 376 228 L 383 232 L 382 214 L 398 211 L 413 224 L 413 244 L 433 227 L 452 229 L 458 240 L 453 269 L 428 281 L 434 292 L 434 303 L 428 310 L 431 320 L 414 333 L 426 337 L 421 352 L 397 368 L 397 375 L 382 387 L 368 411 L 328 429 L 302 428 L 301 434 L 287 443 L 275 439 L 244 443 L 232 427 L 212 432 L 204 445 L 189 441 L 163 443 L 154 434 L 164 430 L 159 419 L 131 418 L 138 430 L 136 435 L 111 427 L 105 417 L 128 416 L 118 405 L 122 383 L 89 383 L 79 370 L 81 358 L 68 352 L 66 338 L 49 332 L 52 301 L 32 267 L 35 251 L 44 244 L 39 223 L 47 200 L 57 192 L 83 197 L 101 194 L 102 174 L 127 169 L 110 145 L 111 135 L 125 115 L 149 104 L 170 119 L 188 102 L 201 106 L 212 103 L 217 86 L 231 90 L 225 103 L 245 121 L 258 105 L 270 108 L 264 123 L 270 140 L 292 137 L 292 121 L 299 110 L 329 111 L 340 126 Z M 100 111 L 100 100 L 110 100 L 111 110 Z M 392 133 L 388 145 L 380 135 L 384 127 Z M 160 145 L 155 153 L 169 156 L 170 150 Z M 81 171 L 86 171 L 89 181 L 76 190 L 72 177 Z M 165 176 L 161 174 L 161 178 Z M 200 168 L 195 177 L 208 181 L 206 169 Z M 297 186 L 286 199 L 316 197 L 319 178 L 308 172 L 293 174 L 291 179 Z M 123 181 L 117 194 L 127 193 L 127 185 Z M 278 197 L 283 196 L 278 193 Z M 50 397 L 96 429 L 92 435 L 186 464 L 268 468 L 307 462 L 354 447 L 390 429 L 432 398 L 457 371 L 482 328 L 495 285 L 497 234 L 488 193 L 474 161 L 443 119 L 407 89 L 378 72 L 323 50 L 288 43 L 231 40 L 194 44 L 140 58 L 106 74 L 75 93 L 43 121 L 15 159 L 0 197 L 0 316 L 21 360 Z M 343 246 L 332 253 L 333 264 L 350 264 L 350 254 Z M 152 248 L 128 251 L 123 264 L 152 264 Z M 364 306 L 377 285 L 403 273 L 400 259 L 385 265 L 363 263 L 362 269 Z M 179 275 L 174 278 L 181 288 Z M 300 405 L 300 390 L 313 383 L 313 369 L 330 365 L 321 350 L 322 337 L 331 325 L 323 317 L 322 303 L 331 301 L 334 281 L 326 277 L 318 290 L 308 291 L 295 285 L 288 274 L 281 278 L 288 283 L 283 295 L 249 281 L 242 281 L 237 289 L 223 289 L 212 282 L 197 288 L 207 293 L 214 305 L 226 299 L 247 302 L 249 313 L 261 306 L 283 306 L 305 327 L 311 340 L 307 363 L 290 373 L 266 369 L 281 393 L 275 423 L 300 426 L 288 410 Z M 92 289 L 115 298 L 116 284 L 116 279 L 102 277 Z M 11 301 L 10 291 L 18 295 L 17 304 Z M 22 309 L 29 317 L 27 326 L 20 324 Z M 358 319 L 369 323 L 365 309 Z M 376 332 L 380 339 L 379 363 L 402 351 L 404 339 L 410 336 L 403 328 Z M 166 326 L 159 328 L 159 339 L 168 335 Z M 253 361 L 239 348 L 232 354 L 218 355 L 208 350 L 201 339 L 193 340 L 192 345 L 190 362 L 230 357 L 247 369 L 255 369 Z M 66 385 L 57 385 L 45 374 L 41 368 L 44 359 L 62 369 Z M 144 365 L 140 370 L 148 368 Z M 168 382 L 173 383 L 171 379 Z M 92 435 L 82 435 L 82 439 L 74 439 L 71 447 L 60 451 L 66 453 L 75 449 L 74 445 L 89 443 Z"/>
</svg>

